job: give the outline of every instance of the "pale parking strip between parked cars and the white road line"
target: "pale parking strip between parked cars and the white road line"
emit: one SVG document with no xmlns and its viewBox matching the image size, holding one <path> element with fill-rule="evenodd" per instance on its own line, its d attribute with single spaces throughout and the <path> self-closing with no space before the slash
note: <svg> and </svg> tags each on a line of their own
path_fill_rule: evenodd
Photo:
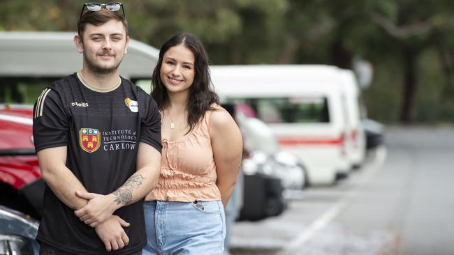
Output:
<svg viewBox="0 0 454 255">
<path fill-rule="evenodd" d="M 295 250 L 312 240 L 319 231 L 324 231 L 325 237 L 324 241 L 317 242 L 331 242 L 337 236 L 344 235 L 338 227 L 332 226 L 332 219 L 380 171 L 385 160 L 386 148 L 380 147 L 369 153 L 363 167 L 352 171 L 349 178 L 339 180 L 336 185 L 307 187 L 301 192 L 289 194 L 291 200 L 288 208 L 281 215 L 257 222 L 236 222 L 233 225 L 231 253 L 298 254 Z M 367 238 L 369 240 L 360 240 L 360 237 L 351 236 L 350 245 L 354 245 L 354 242 L 358 245 L 369 242 L 370 248 L 372 243 L 381 247 L 383 242 L 388 242 L 388 237 L 379 233 Z"/>
</svg>

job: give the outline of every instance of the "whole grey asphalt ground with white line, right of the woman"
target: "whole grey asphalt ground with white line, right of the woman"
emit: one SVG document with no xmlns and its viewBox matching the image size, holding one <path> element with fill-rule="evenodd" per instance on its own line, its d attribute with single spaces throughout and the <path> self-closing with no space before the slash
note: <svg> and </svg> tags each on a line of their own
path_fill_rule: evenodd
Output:
<svg viewBox="0 0 454 255">
<path fill-rule="evenodd" d="M 454 130 L 391 127 L 386 146 L 333 187 L 233 226 L 232 254 L 454 254 Z"/>
</svg>

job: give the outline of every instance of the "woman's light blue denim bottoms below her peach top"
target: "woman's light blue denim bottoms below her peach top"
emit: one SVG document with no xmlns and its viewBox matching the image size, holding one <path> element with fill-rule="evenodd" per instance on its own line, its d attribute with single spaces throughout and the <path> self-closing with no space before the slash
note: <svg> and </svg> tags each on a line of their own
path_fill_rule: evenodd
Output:
<svg viewBox="0 0 454 255">
<path fill-rule="evenodd" d="M 224 252 L 226 216 L 221 201 L 145 201 L 148 254 Z"/>
</svg>

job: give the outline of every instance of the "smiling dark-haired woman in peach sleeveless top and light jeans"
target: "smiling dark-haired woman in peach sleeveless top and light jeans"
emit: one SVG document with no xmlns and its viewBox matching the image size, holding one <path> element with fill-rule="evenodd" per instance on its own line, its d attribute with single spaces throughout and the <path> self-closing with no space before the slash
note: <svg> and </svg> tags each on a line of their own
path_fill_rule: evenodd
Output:
<svg viewBox="0 0 454 255">
<path fill-rule="evenodd" d="M 152 82 L 163 152 L 159 183 L 145 197 L 143 253 L 222 254 L 242 138 L 211 88 L 200 40 L 181 33 L 164 42 Z"/>
</svg>

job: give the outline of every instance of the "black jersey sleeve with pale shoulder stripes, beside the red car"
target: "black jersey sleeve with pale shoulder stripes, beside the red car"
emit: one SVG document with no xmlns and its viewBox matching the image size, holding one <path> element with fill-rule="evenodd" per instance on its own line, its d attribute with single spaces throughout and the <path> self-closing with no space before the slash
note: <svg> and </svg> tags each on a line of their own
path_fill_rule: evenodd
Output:
<svg viewBox="0 0 454 255">
<path fill-rule="evenodd" d="M 68 120 L 59 95 L 45 88 L 34 105 L 35 150 L 68 145 Z"/>
</svg>

